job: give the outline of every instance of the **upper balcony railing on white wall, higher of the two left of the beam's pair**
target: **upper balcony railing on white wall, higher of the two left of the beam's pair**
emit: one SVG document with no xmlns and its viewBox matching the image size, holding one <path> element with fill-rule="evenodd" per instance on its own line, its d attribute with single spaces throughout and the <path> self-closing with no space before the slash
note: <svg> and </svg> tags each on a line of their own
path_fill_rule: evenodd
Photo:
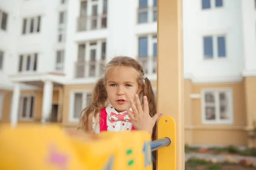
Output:
<svg viewBox="0 0 256 170">
<path fill-rule="evenodd" d="M 107 28 L 107 14 L 81 16 L 77 20 L 77 31 L 87 31 L 101 28 Z"/>
</svg>

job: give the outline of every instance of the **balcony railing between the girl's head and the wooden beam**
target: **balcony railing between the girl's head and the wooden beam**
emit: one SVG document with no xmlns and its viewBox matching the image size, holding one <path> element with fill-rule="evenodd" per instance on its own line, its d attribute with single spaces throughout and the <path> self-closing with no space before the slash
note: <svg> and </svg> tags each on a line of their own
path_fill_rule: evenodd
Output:
<svg viewBox="0 0 256 170">
<path fill-rule="evenodd" d="M 142 65 L 145 74 L 157 73 L 157 57 L 138 57 L 137 60 Z"/>
</svg>

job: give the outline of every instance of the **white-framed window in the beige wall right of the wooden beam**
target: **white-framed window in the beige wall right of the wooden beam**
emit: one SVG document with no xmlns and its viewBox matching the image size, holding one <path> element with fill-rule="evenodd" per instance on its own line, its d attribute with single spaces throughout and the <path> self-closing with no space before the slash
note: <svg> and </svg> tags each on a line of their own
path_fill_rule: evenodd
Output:
<svg viewBox="0 0 256 170">
<path fill-rule="evenodd" d="M 232 89 L 202 90 L 202 121 L 205 124 L 232 124 L 233 97 Z"/>
</svg>

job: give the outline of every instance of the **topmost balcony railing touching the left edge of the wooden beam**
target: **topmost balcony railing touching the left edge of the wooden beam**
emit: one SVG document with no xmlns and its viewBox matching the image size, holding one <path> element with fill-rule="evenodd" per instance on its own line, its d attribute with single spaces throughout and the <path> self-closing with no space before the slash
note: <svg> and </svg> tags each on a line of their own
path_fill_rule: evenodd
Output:
<svg viewBox="0 0 256 170">
<path fill-rule="evenodd" d="M 137 23 L 152 23 L 157 21 L 157 7 L 138 8 Z"/>
</svg>

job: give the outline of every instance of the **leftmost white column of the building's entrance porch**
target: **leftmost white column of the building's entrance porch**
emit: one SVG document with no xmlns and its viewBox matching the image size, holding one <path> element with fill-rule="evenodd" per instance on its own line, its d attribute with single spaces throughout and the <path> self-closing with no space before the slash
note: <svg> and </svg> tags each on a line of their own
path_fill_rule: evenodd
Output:
<svg viewBox="0 0 256 170">
<path fill-rule="evenodd" d="M 20 100 L 20 84 L 15 83 L 12 94 L 11 126 L 15 127 L 18 122 L 18 108 Z"/>
</svg>

